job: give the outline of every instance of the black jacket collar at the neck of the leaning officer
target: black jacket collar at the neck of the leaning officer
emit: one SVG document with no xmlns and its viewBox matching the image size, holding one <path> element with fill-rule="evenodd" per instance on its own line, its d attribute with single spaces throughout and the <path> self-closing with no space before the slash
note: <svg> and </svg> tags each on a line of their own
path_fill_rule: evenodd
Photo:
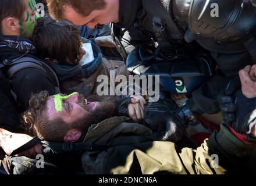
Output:
<svg viewBox="0 0 256 186">
<path fill-rule="evenodd" d="M 119 28 L 130 28 L 136 17 L 140 16 L 143 10 L 142 0 L 120 0 L 119 1 L 119 22 L 115 26 Z"/>
</svg>

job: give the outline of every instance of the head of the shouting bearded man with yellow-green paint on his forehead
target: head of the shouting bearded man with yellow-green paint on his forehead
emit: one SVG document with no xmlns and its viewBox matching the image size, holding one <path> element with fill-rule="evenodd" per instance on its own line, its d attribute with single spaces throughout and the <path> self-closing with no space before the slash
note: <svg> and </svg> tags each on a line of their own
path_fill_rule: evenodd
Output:
<svg viewBox="0 0 256 186">
<path fill-rule="evenodd" d="M 41 140 L 74 142 L 92 124 L 115 116 L 116 105 L 112 97 L 98 101 L 87 102 L 77 92 L 49 96 L 47 91 L 42 91 L 31 96 L 29 109 L 23 114 L 23 124 L 30 135 L 37 135 Z"/>
</svg>

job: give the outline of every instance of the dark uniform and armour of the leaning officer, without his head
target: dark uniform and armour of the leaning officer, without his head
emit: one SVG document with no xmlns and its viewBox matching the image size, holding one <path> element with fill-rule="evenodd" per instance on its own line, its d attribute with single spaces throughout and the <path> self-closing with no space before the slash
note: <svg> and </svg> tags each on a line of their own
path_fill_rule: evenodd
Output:
<svg viewBox="0 0 256 186">
<path fill-rule="evenodd" d="M 184 87 L 189 87 L 187 93 L 191 91 L 191 98 L 186 105 L 172 112 L 176 116 L 169 115 L 165 118 L 172 121 L 172 125 L 175 120 L 174 123 L 180 126 L 178 128 L 182 128 L 180 132 L 169 131 L 180 133 L 180 137 L 188 121 L 202 113 L 218 113 L 219 104 L 216 99 L 218 95 L 223 90 L 228 92 L 229 89 L 237 87 L 238 71 L 256 62 L 256 8 L 251 1 L 120 0 L 119 18 L 119 23 L 113 24 L 113 33 L 123 58 L 128 55 L 127 66 L 131 71 L 138 70 L 140 64 L 145 66 L 148 59 L 153 59 L 156 63 L 159 59 L 170 63 L 175 63 L 177 59 L 195 59 L 201 53 L 207 55 L 204 49 L 209 51 L 213 59 L 213 62 L 206 60 L 208 65 L 214 68 L 213 64 L 216 63 L 216 70 L 211 69 L 213 76 L 201 81 L 200 87 L 197 87 L 195 82 L 197 79 L 193 74 L 190 74 L 190 81 L 187 81 L 183 80 L 186 77 L 183 77 L 180 71 L 175 73 L 175 76 L 180 73 L 179 78 L 183 81 Z M 156 57 L 150 58 L 150 53 L 154 53 Z M 151 61 L 148 60 L 148 64 L 152 64 Z M 197 62 L 194 64 L 199 64 Z M 163 65 L 163 63 L 159 64 L 157 69 Z M 191 66 L 183 67 L 189 69 Z M 172 67 L 169 73 L 173 73 L 176 69 L 175 66 Z M 185 74 L 187 69 L 183 71 Z M 142 73 L 147 71 L 148 68 L 145 68 Z M 154 68 L 151 67 L 150 72 L 152 71 Z M 190 72 L 193 72 L 193 69 Z M 161 71 L 158 73 L 161 74 Z M 206 78 L 211 75 L 207 71 L 202 73 Z M 173 79 L 175 80 L 176 78 Z M 228 84 L 230 86 L 227 86 Z M 155 108 L 157 104 L 151 105 Z M 162 107 L 159 108 L 161 110 Z M 152 115 L 150 112 L 157 110 L 148 112 Z M 154 113 L 152 117 L 156 114 Z M 157 121 L 151 119 L 150 123 L 154 125 Z"/>
</svg>

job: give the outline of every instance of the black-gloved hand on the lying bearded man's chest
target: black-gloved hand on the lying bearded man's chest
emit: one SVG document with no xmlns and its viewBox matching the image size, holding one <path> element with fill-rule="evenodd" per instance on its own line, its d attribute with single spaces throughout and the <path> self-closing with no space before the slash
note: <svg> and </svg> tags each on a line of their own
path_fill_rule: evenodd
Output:
<svg viewBox="0 0 256 186">
<path fill-rule="evenodd" d="M 145 124 L 155 132 L 156 140 L 177 142 L 182 140 L 187 125 L 173 115 L 178 108 L 172 99 L 151 102 L 145 109 Z"/>
</svg>

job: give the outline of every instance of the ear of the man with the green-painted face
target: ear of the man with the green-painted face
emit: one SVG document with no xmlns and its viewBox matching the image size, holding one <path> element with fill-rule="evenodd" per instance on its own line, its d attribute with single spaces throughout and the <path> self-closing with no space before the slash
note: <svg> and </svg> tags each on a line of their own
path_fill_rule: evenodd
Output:
<svg viewBox="0 0 256 186">
<path fill-rule="evenodd" d="M 3 35 L 20 35 L 19 20 L 15 17 L 6 17 L 2 21 Z"/>
</svg>

